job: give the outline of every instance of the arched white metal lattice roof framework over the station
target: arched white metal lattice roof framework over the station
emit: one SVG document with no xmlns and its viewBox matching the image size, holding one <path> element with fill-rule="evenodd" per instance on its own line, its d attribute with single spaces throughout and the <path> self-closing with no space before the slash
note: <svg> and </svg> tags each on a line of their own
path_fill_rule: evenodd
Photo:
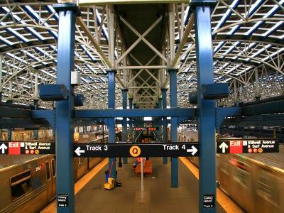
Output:
<svg viewBox="0 0 284 213">
<path fill-rule="evenodd" d="M 2 99 L 31 104 L 39 84 L 56 82 L 58 14 L 56 1 L 0 1 L 0 92 Z M 284 0 L 217 1 L 212 11 L 214 78 L 228 82 L 231 94 L 221 105 L 283 94 Z M 162 7 L 161 7 L 162 8 Z M 107 107 L 107 76 L 116 75 L 116 107 L 121 89 L 141 108 L 155 107 L 167 88 L 166 69 L 178 72 L 178 104 L 189 107 L 196 90 L 194 16 L 185 3 L 165 4 L 163 12 L 138 28 L 127 8 L 82 6 L 76 21 L 75 71 L 81 73 L 76 92 L 86 109 Z M 126 12 L 124 12 L 126 10 Z M 137 18 L 139 21 L 139 14 Z M 131 14 L 130 14 L 131 15 Z M 129 16 L 130 16 L 129 15 Z M 141 21 L 141 20 L 140 20 Z M 153 40 L 159 31 L 160 40 Z M 143 30 L 141 30 L 143 29 Z M 139 48 L 148 50 L 141 58 Z M 41 107 L 52 107 L 40 102 Z"/>
</svg>

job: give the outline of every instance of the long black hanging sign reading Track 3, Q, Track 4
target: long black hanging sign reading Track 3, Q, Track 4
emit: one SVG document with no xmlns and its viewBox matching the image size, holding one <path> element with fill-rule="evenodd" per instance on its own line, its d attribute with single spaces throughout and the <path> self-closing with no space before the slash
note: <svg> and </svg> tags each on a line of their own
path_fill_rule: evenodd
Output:
<svg viewBox="0 0 284 213">
<path fill-rule="evenodd" d="M 198 143 L 75 143 L 75 157 L 198 156 Z"/>
</svg>

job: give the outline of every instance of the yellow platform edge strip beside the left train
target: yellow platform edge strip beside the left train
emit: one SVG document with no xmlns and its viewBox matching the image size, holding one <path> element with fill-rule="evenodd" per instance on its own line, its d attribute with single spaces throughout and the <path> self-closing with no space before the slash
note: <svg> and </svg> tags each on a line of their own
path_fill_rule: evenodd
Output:
<svg viewBox="0 0 284 213">
<path fill-rule="evenodd" d="M 92 168 L 92 170 L 90 170 L 89 173 L 87 173 L 82 178 L 80 178 L 80 180 L 78 180 L 75 183 L 75 187 L 74 187 L 75 195 L 80 190 L 82 190 L 82 187 L 84 187 L 90 180 L 92 180 L 92 178 L 94 178 L 94 175 L 97 175 L 97 173 L 99 173 L 99 171 L 102 170 L 102 168 L 104 168 L 104 166 L 107 165 L 108 162 L 109 162 L 109 158 L 105 158 L 104 160 L 102 160 L 102 162 L 100 162 L 98 165 Z M 56 211 L 56 200 L 51 202 L 47 207 L 45 207 L 45 209 L 41 211 L 41 213 L 55 213 L 55 212 L 57 212 Z"/>
</svg>

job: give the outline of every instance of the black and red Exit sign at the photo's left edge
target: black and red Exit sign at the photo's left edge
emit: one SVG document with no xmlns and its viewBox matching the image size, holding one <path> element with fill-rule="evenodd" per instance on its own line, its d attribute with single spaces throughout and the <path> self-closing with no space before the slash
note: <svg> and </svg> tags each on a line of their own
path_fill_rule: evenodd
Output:
<svg viewBox="0 0 284 213">
<path fill-rule="evenodd" d="M 0 155 L 55 154 L 54 141 L 0 141 Z"/>
</svg>

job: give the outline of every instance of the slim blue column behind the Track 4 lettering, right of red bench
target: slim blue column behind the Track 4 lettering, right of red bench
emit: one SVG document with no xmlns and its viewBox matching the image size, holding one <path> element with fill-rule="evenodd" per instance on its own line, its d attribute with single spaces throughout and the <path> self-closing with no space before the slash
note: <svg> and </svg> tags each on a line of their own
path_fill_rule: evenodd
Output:
<svg viewBox="0 0 284 213">
<path fill-rule="evenodd" d="M 178 107 L 177 72 L 178 69 L 168 69 L 170 73 L 170 108 Z M 172 143 L 178 142 L 178 118 L 170 118 L 170 138 Z M 171 187 L 178 187 L 178 158 L 173 157 L 171 162 Z"/>
</svg>

